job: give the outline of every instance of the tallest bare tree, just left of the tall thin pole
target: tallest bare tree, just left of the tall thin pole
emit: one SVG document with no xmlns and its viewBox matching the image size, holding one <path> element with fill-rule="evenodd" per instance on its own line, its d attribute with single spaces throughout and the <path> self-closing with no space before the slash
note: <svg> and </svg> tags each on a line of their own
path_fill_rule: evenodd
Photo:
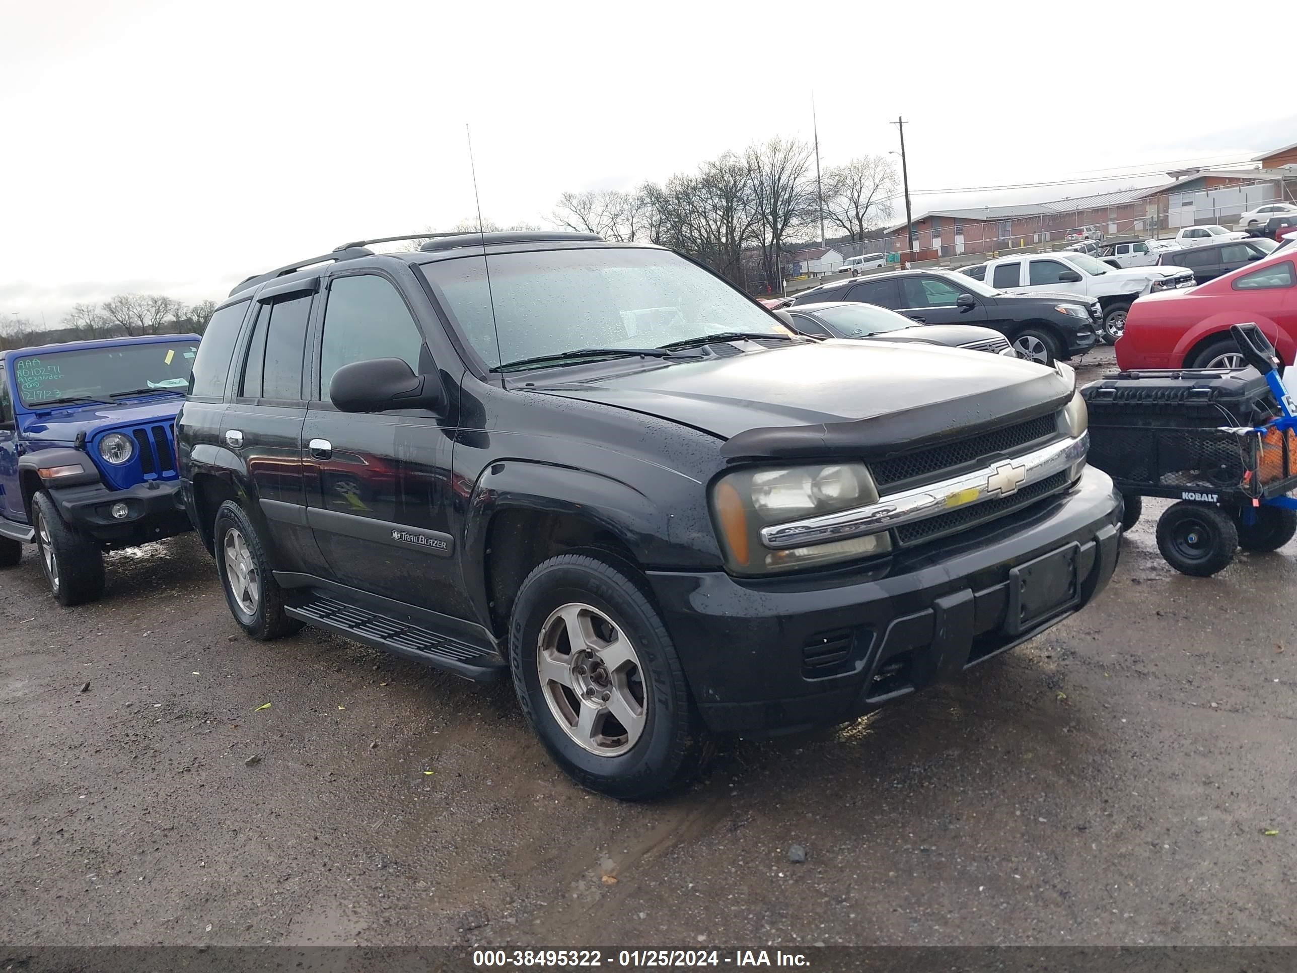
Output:
<svg viewBox="0 0 1297 973">
<path fill-rule="evenodd" d="M 772 293 L 782 293 L 781 262 L 790 230 L 815 209 L 815 187 L 808 178 L 811 145 L 800 139 L 776 136 L 754 143 L 743 154 L 748 180 L 752 227 L 761 248 L 761 270 Z"/>
</svg>

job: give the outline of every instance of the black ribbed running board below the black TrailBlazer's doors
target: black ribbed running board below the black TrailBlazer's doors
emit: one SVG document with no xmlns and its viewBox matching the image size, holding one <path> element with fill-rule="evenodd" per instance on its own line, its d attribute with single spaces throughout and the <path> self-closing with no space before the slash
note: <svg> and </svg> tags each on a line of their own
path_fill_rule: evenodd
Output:
<svg viewBox="0 0 1297 973">
<path fill-rule="evenodd" d="M 385 649 L 477 682 L 498 679 L 507 668 L 499 653 L 447 638 L 427 628 L 398 621 L 314 592 L 297 603 L 285 605 L 284 614 L 309 625 L 318 625 L 346 638 L 354 638 L 357 642 Z"/>
</svg>

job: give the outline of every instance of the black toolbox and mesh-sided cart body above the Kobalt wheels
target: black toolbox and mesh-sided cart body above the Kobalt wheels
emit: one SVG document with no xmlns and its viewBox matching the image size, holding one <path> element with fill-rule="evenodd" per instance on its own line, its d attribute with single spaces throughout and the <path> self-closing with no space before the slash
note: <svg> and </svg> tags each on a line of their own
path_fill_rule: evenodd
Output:
<svg viewBox="0 0 1297 973">
<path fill-rule="evenodd" d="M 1237 490 L 1243 501 L 1293 489 L 1294 433 L 1245 432 L 1280 415 L 1255 368 L 1121 371 L 1080 392 L 1089 462 L 1123 493 L 1196 498 Z"/>
</svg>

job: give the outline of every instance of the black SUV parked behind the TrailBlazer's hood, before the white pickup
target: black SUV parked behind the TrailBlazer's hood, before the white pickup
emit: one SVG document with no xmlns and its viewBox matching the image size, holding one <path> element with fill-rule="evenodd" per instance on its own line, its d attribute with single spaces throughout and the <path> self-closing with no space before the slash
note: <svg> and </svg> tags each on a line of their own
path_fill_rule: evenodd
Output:
<svg viewBox="0 0 1297 973">
<path fill-rule="evenodd" d="M 1019 358 L 1053 365 L 1095 346 L 1097 301 L 1075 294 L 1016 296 L 965 274 L 903 270 L 859 280 L 834 280 L 803 291 L 792 306 L 822 301 L 864 301 L 890 307 L 923 324 L 977 324 L 999 331 Z"/>
</svg>

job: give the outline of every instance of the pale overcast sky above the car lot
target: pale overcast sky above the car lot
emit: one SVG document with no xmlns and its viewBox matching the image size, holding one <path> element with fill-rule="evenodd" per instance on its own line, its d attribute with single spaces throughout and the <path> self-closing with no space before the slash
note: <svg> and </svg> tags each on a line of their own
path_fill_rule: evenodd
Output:
<svg viewBox="0 0 1297 973">
<path fill-rule="evenodd" d="M 1297 4 L 1240 9 L 1297 35 Z M 1263 69 L 1224 83 L 1257 35 L 1230 34 L 1226 10 L 0 0 L 0 315 L 222 297 L 346 240 L 453 226 L 473 213 L 466 122 L 501 223 L 809 138 L 812 92 L 826 166 L 896 149 L 904 114 L 918 193 L 1131 174 L 916 195 L 916 211 L 1148 184 L 1136 174 L 1297 141 L 1283 70 L 1268 91 Z M 1182 70 L 1195 53 L 1222 67 Z M 1202 83 L 1172 84 L 1187 78 Z"/>
</svg>

